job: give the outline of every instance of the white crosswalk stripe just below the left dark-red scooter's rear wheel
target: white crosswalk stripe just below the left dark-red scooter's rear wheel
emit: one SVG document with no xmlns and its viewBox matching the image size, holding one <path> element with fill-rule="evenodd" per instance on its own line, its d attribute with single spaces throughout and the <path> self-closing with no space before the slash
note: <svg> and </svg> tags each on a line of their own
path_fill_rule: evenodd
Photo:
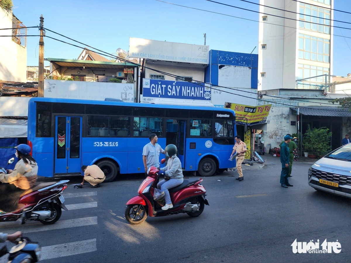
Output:
<svg viewBox="0 0 351 263">
<path fill-rule="evenodd" d="M 83 217 L 77 219 L 69 219 L 69 220 L 59 220 L 55 224 L 52 225 L 43 225 L 42 223 L 34 223 L 34 224 L 25 224 L 11 227 L 1 228 L 1 232 L 12 233 L 16 231 L 22 231 L 23 233 L 32 233 L 32 232 L 40 232 L 47 230 L 55 230 L 55 229 L 63 229 L 63 228 L 71 228 L 71 227 L 83 227 L 86 225 L 96 225 L 98 224 L 98 217 Z"/>
</svg>

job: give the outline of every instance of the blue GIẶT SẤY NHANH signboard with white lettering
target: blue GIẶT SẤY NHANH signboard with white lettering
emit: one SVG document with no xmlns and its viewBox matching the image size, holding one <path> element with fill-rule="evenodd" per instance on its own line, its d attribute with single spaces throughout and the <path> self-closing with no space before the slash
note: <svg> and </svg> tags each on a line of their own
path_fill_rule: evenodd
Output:
<svg viewBox="0 0 351 263">
<path fill-rule="evenodd" d="M 211 102 L 211 85 L 188 81 L 143 79 L 143 102 L 161 98 Z"/>
</svg>

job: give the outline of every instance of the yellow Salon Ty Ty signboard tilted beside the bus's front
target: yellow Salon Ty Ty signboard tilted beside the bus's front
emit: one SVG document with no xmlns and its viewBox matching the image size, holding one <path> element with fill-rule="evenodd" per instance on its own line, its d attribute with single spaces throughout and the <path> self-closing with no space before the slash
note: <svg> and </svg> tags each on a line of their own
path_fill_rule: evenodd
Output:
<svg viewBox="0 0 351 263">
<path fill-rule="evenodd" d="M 266 104 L 262 106 L 247 106 L 243 104 L 226 102 L 224 107 L 235 111 L 237 123 L 243 125 L 247 124 L 250 126 L 266 122 L 272 104 Z"/>
</svg>

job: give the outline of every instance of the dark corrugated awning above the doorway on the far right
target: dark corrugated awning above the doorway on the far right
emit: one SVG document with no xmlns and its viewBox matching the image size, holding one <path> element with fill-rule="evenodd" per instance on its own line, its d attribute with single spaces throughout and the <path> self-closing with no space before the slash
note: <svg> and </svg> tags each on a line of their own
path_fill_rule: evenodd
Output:
<svg viewBox="0 0 351 263">
<path fill-rule="evenodd" d="M 297 108 L 291 108 L 297 112 Z M 349 109 L 338 107 L 299 107 L 299 114 L 310 116 L 351 117 Z"/>
</svg>

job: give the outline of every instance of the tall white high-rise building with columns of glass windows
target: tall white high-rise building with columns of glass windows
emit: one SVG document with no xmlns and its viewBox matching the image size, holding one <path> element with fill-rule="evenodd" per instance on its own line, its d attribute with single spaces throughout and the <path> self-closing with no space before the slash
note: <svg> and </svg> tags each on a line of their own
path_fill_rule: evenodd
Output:
<svg viewBox="0 0 351 263">
<path fill-rule="evenodd" d="M 320 75 L 332 75 L 333 0 L 260 4 L 258 90 L 323 89 Z"/>
</svg>

